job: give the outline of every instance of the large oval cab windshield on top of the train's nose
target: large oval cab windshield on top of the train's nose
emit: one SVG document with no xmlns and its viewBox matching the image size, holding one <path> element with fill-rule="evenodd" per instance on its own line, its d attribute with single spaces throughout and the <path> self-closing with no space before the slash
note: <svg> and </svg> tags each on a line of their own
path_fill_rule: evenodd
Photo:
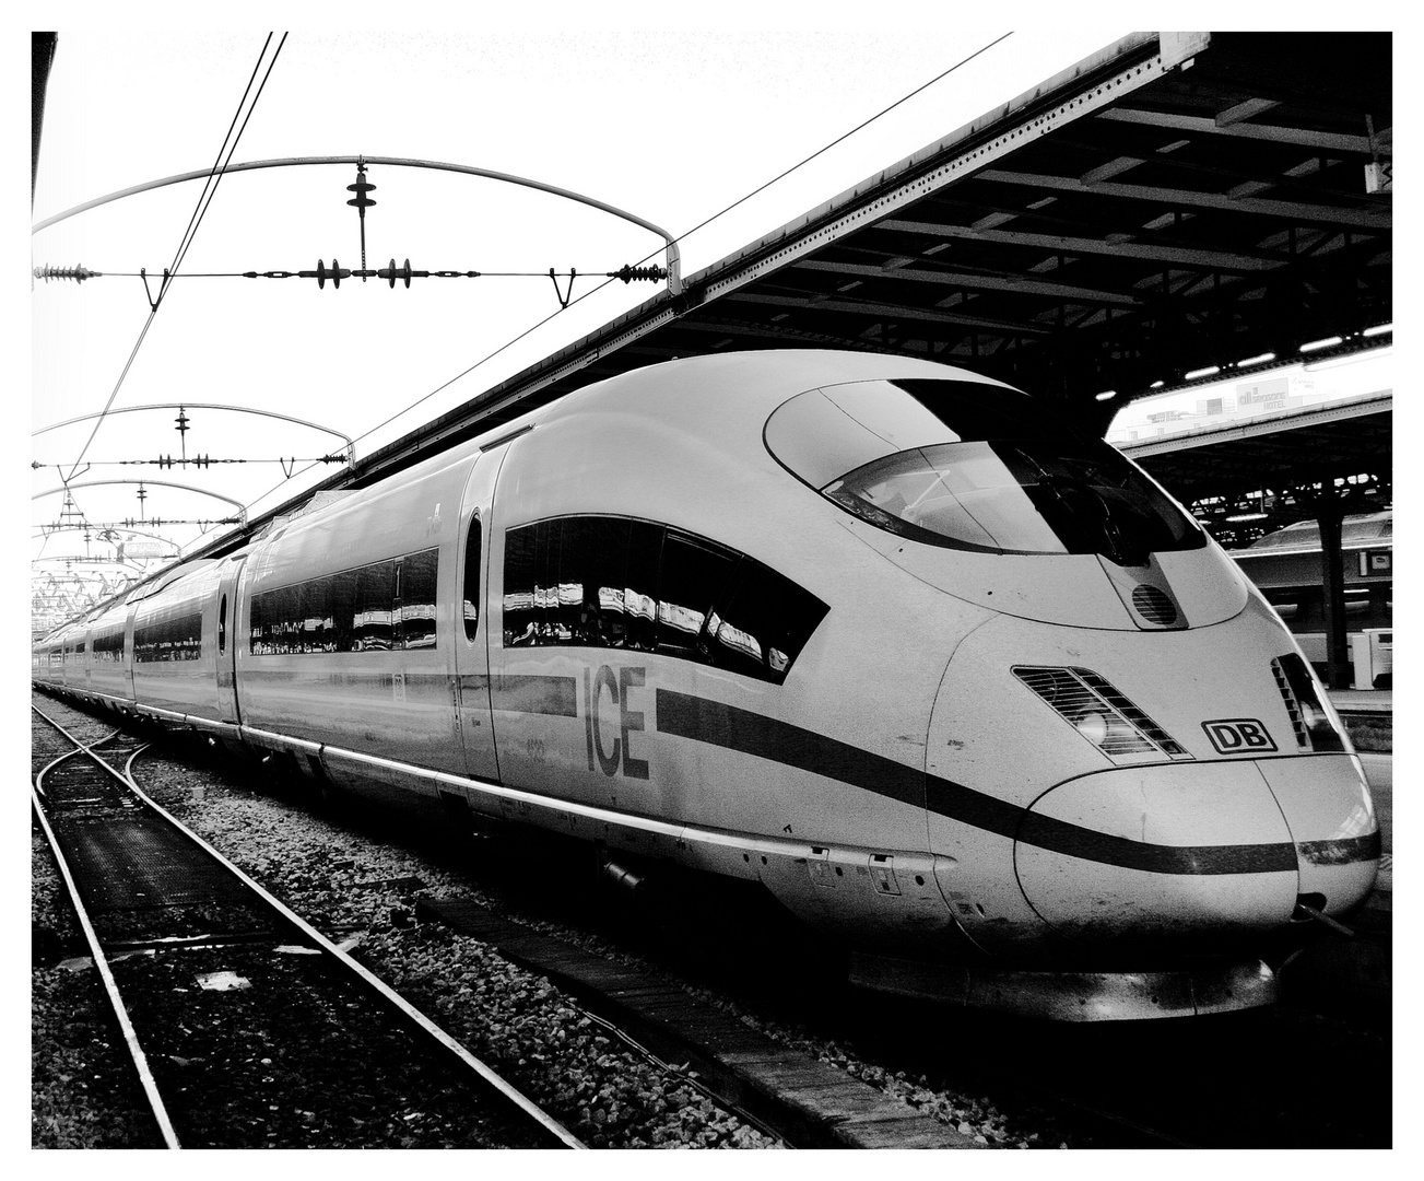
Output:
<svg viewBox="0 0 1424 1181">
<path fill-rule="evenodd" d="M 930 546 L 1145 566 L 1152 553 L 1206 544 L 1114 447 L 991 382 L 809 390 L 772 415 L 766 444 L 833 504 Z"/>
</svg>

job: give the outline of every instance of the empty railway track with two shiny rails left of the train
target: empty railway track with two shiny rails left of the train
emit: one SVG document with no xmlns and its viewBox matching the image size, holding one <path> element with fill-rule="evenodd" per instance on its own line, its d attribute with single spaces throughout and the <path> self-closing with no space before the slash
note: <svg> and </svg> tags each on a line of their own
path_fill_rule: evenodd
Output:
<svg viewBox="0 0 1424 1181">
<path fill-rule="evenodd" d="M 36 816 L 164 1144 L 584 1147 L 144 795 L 135 739 L 33 718 Z"/>
</svg>

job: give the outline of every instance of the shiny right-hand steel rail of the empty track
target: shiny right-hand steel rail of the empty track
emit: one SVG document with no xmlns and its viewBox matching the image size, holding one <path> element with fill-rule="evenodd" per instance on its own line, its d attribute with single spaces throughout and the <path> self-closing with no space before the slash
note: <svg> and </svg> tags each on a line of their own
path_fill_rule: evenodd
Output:
<svg viewBox="0 0 1424 1181">
<path fill-rule="evenodd" d="M 50 719 L 38 707 L 31 705 L 41 718 L 46 718 L 51 725 L 60 729 L 66 738 L 78 744 L 67 731 L 63 729 L 57 722 Z M 511 1107 L 517 1108 L 528 1121 L 538 1127 L 547 1137 L 550 1137 L 555 1145 L 564 1148 L 587 1148 L 581 1140 L 578 1140 L 572 1133 L 570 1133 L 562 1124 L 554 1120 L 548 1113 L 534 1104 L 527 1096 L 515 1088 L 511 1083 L 503 1078 L 494 1068 L 487 1066 L 484 1061 L 477 1058 L 468 1050 L 464 1049 L 454 1037 L 451 1037 L 444 1029 L 437 1026 L 424 1013 L 416 1009 L 409 1000 L 396 993 L 386 982 L 379 976 L 372 973 L 363 964 L 352 959 L 346 952 L 332 943 L 325 935 L 322 935 L 316 927 L 308 923 L 300 915 L 286 906 L 283 902 L 276 899 L 263 886 L 249 878 L 242 869 L 239 869 L 234 862 L 219 853 L 212 845 L 204 841 L 192 829 L 187 828 L 181 821 L 178 821 L 171 812 L 168 812 L 162 805 L 154 801 L 142 788 L 134 782 L 131 775 L 132 762 L 140 754 L 147 748 L 140 748 L 128 756 L 128 764 L 124 772 L 115 771 L 103 758 L 85 748 L 85 754 L 90 755 L 95 762 L 105 768 L 110 774 L 122 779 L 124 785 L 134 792 L 134 795 L 142 801 L 142 803 L 152 809 L 152 812 L 161 816 L 165 822 L 172 825 L 178 832 L 192 841 L 199 849 L 202 849 L 208 856 L 216 860 L 224 869 L 232 873 L 239 882 L 242 882 L 248 889 L 251 889 L 262 902 L 275 910 L 286 923 L 295 927 L 302 936 L 310 940 L 313 947 L 320 949 L 337 963 L 340 963 L 352 976 L 355 976 L 369 992 L 375 993 L 387 1007 L 393 1009 L 402 1019 L 409 1021 L 422 1030 L 427 1037 L 430 1037 L 441 1049 L 453 1054 L 464 1067 L 467 1067 L 488 1090 L 504 1100 Z M 91 946 L 97 947 L 97 943 Z M 171 1145 L 177 1147 L 177 1145 Z"/>
</svg>

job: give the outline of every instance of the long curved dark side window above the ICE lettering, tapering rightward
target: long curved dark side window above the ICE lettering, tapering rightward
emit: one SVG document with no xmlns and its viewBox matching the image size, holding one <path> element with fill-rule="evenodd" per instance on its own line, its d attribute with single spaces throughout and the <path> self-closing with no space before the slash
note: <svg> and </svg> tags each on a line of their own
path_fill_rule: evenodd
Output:
<svg viewBox="0 0 1424 1181">
<path fill-rule="evenodd" d="M 506 534 L 504 645 L 632 648 L 780 684 L 826 604 L 713 541 L 561 517 Z"/>
</svg>

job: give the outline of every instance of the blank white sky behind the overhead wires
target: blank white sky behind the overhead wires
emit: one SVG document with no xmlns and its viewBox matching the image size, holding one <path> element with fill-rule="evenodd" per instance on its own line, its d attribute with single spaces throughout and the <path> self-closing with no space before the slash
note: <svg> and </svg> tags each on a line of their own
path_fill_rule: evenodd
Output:
<svg viewBox="0 0 1424 1181">
<path fill-rule="evenodd" d="M 531 10 L 545 11 L 537 6 Z M 600 7 L 608 13 L 607 6 Z M 615 11 L 621 11 L 617 10 Z M 389 155 L 471 164 L 528 177 L 621 207 L 681 235 L 790 165 L 1008 31 L 965 26 L 950 9 L 928 20 L 856 10 L 839 27 L 739 31 L 597 27 L 535 17 L 488 31 L 293 30 L 235 161 Z M 834 10 L 832 10 L 834 14 Z M 50 76 L 33 219 L 115 189 L 212 162 L 262 48 L 265 30 L 181 33 L 61 24 Z M 155 27 L 158 23 L 155 21 Z M 787 31 L 793 28 L 796 31 Z M 1112 28 L 1020 31 L 824 157 L 682 242 L 691 275 L 1008 101 L 1121 36 Z M 273 41 L 275 44 L 275 41 Z M 346 207 L 349 165 L 271 170 L 224 180 L 184 262 L 185 272 L 359 266 Z M 347 281 L 179 279 L 114 402 L 241 405 L 330 426 L 357 454 L 481 393 L 651 298 L 658 286 L 614 283 L 524 343 L 477 365 L 558 309 L 547 271 L 615 271 L 661 239 L 607 214 L 470 177 L 373 167 L 367 265 L 410 258 L 426 269 L 527 271 L 534 278 L 416 279 L 406 291 Z M 201 191 L 172 185 L 81 214 L 31 238 L 33 265 L 108 272 L 81 285 L 37 282 L 33 316 L 34 429 L 101 410 L 148 319 L 138 278 L 114 272 L 169 264 Z M 580 279 L 574 293 L 592 291 Z M 474 368 L 386 427 L 392 415 Z M 198 484 L 253 511 L 302 483 L 279 456 L 337 450 L 332 436 L 272 419 L 191 410 L 188 454 L 244 459 L 205 472 L 114 466 L 178 454 L 177 412 L 118 415 L 75 477 L 148 480 L 144 514 L 212 519 L 219 500 L 154 484 Z M 379 427 L 379 429 L 377 429 Z M 33 440 L 34 460 L 71 463 L 93 423 Z M 258 463 L 256 460 L 263 460 Z M 31 496 L 57 470 L 33 474 Z M 75 490 L 95 521 L 137 517 L 137 484 Z M 61 497 L 33 501 L 31 531 Z M 167 531 L 191 543 L 195 529 Z M 80 534 L 31 540 L 31 557 L 83 553 Z M 103 551 L 97 548 L 95 551 Z"/>
</svg>

